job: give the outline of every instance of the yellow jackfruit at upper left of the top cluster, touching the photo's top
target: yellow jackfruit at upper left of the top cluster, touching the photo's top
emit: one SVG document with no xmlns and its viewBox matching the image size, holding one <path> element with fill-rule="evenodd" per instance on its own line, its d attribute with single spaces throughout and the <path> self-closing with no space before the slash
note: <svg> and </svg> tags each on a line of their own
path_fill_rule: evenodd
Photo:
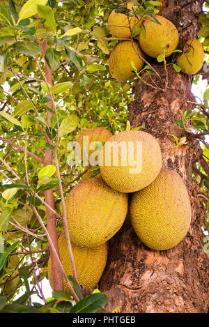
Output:
<svg viewBox="0 0 209 327">
<path fill-rule="evenodd" d="M 134 8 L 134 3 L 127 3 L 127 8 L 132 10 Z M 130 22 L 129 22 L 130 21 Z M 141 17 L 135 17 L 123 13 L 116 13 L 116 10 L 113 10 L 109 15 L 107 26 L 109 33 L 116 38 L 131 38 L 131 31 L 134 26 L 141 26 L 142 20 Z"/>
</svg>

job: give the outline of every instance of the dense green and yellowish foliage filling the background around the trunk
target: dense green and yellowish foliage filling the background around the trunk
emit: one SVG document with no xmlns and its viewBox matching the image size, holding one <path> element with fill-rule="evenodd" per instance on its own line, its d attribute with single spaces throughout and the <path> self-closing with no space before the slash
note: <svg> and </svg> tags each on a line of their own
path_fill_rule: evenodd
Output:
<svg viewBox="0 0 209 327">
<path fill-rule="evenodd" d="M 134 3 L 138 13 L 153 19 L 158 13 L 156 6 L 161 5 L 159 1 Z M 101 126 L 113 133 L 130 128 L 127 105 L 133 100 L 134 80 L 116 82 L 108 69 L 109 54 L 118 42 L 107 30 L 109 13 L 115 8 L 118 13 L 127 13 L 124 3 L 121 6 L 121 1 L 109 0 L 0 3 L 1 312 L 96 312 L 107 301 L 101 293 L 81 298 L 79 287 L 71 279 L 79 297 L 76 305 L 63 292 L 54 292 L 47 302 L 38 282 L 47 277 L 49 257 L 47 236 L 40 225 L 40 220 L 46 223 L 47 219 L 44 192 L 53 190 L 59 218 L 63 214 L 59 182 L 65 197 L 84 172 L 82 162 L 68 165 L 68 144 L 87 128 Z M 208 28 L 207 15 L 200 20 Z M 143 25 L 141 32 L 146 33 Z M 208 46 L 208 34 L 204 36 L 201 31 L 200 36 L 206 37 L 204 45 Z M 159 61 L 167 66 L 163 54 Z M 46 67 L 52 73 L 52 83 L 46 78 Z M 150 66 L 144 70 L 153 73 Z M 208 100 L 206 90 L 203 105 L 208 106 Z M 195 105 L 194 111 L 176 123 L 185 128 L 189 120 L 193 129 L 206 132 L 206 112 L 205 107 Z M 204 140 L 203 154 L 208 162 Z M 50 151 L 58 163 L 53 159 L 44 167 L 45 153 Z M 206 174 L 203 167 L 198 168 Z M 199 181 L 199 176 L 194 178 Z M 201 184 L 204 194 L 209 189 L 206 182 Z M 60 233 L 63 221 L 56 222 Z M 204 228 L 208 228 L 207 220 Z M 16 300 L 21 287 L 26 292 Z M 45 305 L 31 304 L 34 291 Z"/>
</svg>

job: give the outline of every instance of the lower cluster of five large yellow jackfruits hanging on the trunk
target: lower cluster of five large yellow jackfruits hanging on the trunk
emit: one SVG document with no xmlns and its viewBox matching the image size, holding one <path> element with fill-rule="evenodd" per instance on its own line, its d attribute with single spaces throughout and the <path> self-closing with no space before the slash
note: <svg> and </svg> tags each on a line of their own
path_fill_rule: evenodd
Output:
<svg viewBox="0 0 209 327">
<path fill-rule="evenodd" d="M 105 129 L 89 129 L 78 138 L 81 144 L 84 135 L 91 135 L 93 142 L 104 142 L 98 152 L 100 173 L 75 185 L 65 205 L 79 283 L 94 288 L 107 262 L 107 243 L 121 229 L 127 213 L 148 248 L 167 250 L 187 234 L 191 207 L 183 179 L 162 168 L 155 137 L 141 130 L 112 135 Z M 92 155 L 91 142 L 86 146 L 84 151 Z M 72 275 L 64 234 L 59 250 L 65 272 Z M 53 287 L 50 260 L 49 281 Z M 70 293 L 65 281 L 63 284 Z"/>
</svg>

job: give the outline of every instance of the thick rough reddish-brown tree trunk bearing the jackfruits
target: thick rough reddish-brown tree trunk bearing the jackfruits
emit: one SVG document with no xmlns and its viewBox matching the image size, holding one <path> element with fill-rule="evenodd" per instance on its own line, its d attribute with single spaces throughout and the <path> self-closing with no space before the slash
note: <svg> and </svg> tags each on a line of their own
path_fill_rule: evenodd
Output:
<svg viewBox="0 0 209 327">
<path fill-rule="evenodd" d="M 167 17 L 178 28 L 179 47 L 182 47 L 184 40 L 196 38 L 203 1 L 162 3 L 160 15 Z M 156 64 L 156 61 L 153 63 L 165 84 L 164 67 L 161 63 Z M 176 247 L 154 251 L 141 243 L 127 217 L 123 228 L 109 246 L 109 259 L 100 282 L 101 291 L 109 298 L 108 311 L 120 306 L 117 312 L 123 313 L 208 312 L 208 257 L 200 246 L 206 209 L 197 197 L 199 187 L 192 180 L 192 162 L 200 160 L 201 148 L 194 137 L 175 124 L 177 119 L 182 119 L 180 111 L 193 109 L 187 102 L 194 101 L 192 77 L 176 73 L 172 65 L 168 67 L 167 91 L 152 89 L 137 80 L 134 101 L 129 105 L 129 121 L 132 128 L 144 126 L 146 132 L 158 139 L 163 167 L 176 170 L 183 177 L 191 199 L 192 224 L 187 236 Z M 156 75 L 152 75 L 152 78 L 159 84 Z M 150 83 L 149 78 L 146 81 Z M 187 144 L 171 149 L 176 142 L 169 134 L 178 138 L 186 136 Z"/>
</svg>

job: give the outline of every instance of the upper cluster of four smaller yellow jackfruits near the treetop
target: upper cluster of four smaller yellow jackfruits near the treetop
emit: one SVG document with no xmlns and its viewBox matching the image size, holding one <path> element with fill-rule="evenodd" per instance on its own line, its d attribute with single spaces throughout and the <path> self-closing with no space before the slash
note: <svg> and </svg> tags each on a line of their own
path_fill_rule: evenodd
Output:
<svg viewBox="0 0 209 327">
<path fill-rule="evenodd" d="M 178 30 L 170 20 L 160 15 L 156 15 L 155 19 L 140 16 L 132 2 L 128 2 L 121 12 L 111 11 L 107 26 L 112 36 L 123 39 L 109 56 L 109 73 L 118 82 L 137 77 L 144 68 L 146 56 L 157 59 L 164 54 L 167 57 L 178 47 Z M 187 40 L 183 53 L 176 59 L 181 71 L 192 75 L 199 72 L 203 61 L 203 47 L 195 39 Z"/>
</svg>

